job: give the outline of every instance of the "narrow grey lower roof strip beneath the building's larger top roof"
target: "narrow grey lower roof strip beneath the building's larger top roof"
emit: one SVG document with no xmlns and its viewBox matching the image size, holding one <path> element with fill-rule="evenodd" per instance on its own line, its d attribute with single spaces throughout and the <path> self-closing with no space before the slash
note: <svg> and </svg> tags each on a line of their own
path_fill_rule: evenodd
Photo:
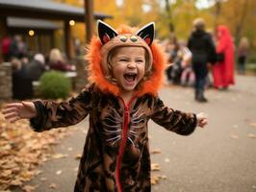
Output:
<svg viewBox="0 0 256 192">
<path fill-rule="evenodd" d="M 15 28 L 33 28 L 44 30 L 56 30 L 61 28 L 61 26 L 57 23 L 48 20 L 16 17 L 8 17 L 7 25 L 8 27 Z"/>
</svg>

